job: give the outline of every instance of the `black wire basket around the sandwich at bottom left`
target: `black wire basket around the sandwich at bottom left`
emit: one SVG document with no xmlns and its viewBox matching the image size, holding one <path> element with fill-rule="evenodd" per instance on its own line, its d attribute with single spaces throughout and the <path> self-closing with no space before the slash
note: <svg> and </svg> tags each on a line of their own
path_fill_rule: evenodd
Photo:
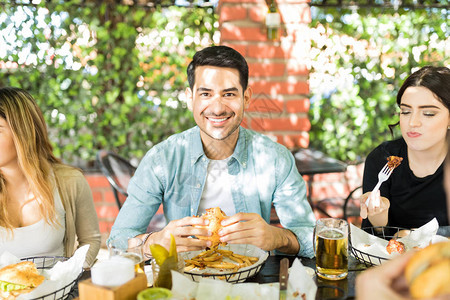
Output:
<svg viewBox="0 0 450 300">
<path fill-rule="evenodd" d="M 36 268 L 38 270 L 44 270 L 51 269 L 57 262 L 66 261 L 68 259 L 69 258 L 65 256 L 34 256 L 22 258 L 21 260 L 32 261 L 36 265 Z M 81 274 L 82 272 L 75 280 L 73 280 L 66 286 L 54 291 L 53 293 L 34 298 L 32 300 L 62 300 L 68 298 L 69 296 L 75 297 L 75 295 L 73 295 L 73 288 L 76 286 L 78 279 L 81 277 Z"/>
</svg>

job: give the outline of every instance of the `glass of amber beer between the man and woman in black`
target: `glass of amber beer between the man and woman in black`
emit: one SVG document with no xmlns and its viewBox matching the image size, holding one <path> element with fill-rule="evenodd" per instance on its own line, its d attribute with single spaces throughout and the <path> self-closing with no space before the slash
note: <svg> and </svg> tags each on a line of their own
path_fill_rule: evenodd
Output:
<svg viewBox="0 0 450 300">
<path fill-rule="evenodd" d="M 340 280 L 348 274 L 348 223 L 335 218 L 319 219 L 314 229 L 316 272 L 323 279 Z"/>
</svg>

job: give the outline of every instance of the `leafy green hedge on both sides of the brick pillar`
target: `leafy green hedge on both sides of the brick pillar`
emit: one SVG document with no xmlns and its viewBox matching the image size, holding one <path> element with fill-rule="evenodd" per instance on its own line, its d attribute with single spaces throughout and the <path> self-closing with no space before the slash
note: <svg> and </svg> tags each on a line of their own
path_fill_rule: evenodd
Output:
<svg viewBox="0 0 450 300">
<path fill-rule="evenodd" d="M 33 94 L 64 161 L 91 168 L 99 149 L 140 159 L 194 125 L 186 67 L 219 43 L 214 7 L 17 3 L 0 3 L 0 86 Z M 403 80 L 449 65 L 449 9 L 312 7 L 312 16 L 310 145 L 361 161 L 391 139 Z"/>
</svg>

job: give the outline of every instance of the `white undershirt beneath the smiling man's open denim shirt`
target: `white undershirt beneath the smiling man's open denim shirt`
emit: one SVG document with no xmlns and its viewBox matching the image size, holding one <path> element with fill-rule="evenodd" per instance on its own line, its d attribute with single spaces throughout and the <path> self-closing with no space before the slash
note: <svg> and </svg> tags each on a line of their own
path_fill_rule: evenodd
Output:
<svg viewBox="0 0 450 300">
<path fill-rule="evenodd" d="M 210 160 L 206 175 L 205 188 L 198 206 L 198 214 L 202 215 L 207 208 L 220 207 L 227 216 L 236 213 L 231 196 L 231 175 L 228 174 L 228 161 Z"/>
</svg>

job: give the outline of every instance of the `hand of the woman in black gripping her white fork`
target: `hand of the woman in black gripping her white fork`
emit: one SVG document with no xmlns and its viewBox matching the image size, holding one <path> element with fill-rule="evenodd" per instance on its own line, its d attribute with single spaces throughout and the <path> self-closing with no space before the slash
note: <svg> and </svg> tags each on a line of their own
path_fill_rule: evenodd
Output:
<svg viewBox="0 0 450 300">
<path fill-rule="evenodd" d="M 367 199 L 369 199 L 368 205 L 366 205 Z M 359 201 L 361 218 L 369 217 L 369 221 L 373 226 L 385 226 L 387 224 L 391 204 L 386 197 L 380 196 L 380 191 L 377 191 L 375 194 L 367 192 L 361 196 Z"/>
</svg>

